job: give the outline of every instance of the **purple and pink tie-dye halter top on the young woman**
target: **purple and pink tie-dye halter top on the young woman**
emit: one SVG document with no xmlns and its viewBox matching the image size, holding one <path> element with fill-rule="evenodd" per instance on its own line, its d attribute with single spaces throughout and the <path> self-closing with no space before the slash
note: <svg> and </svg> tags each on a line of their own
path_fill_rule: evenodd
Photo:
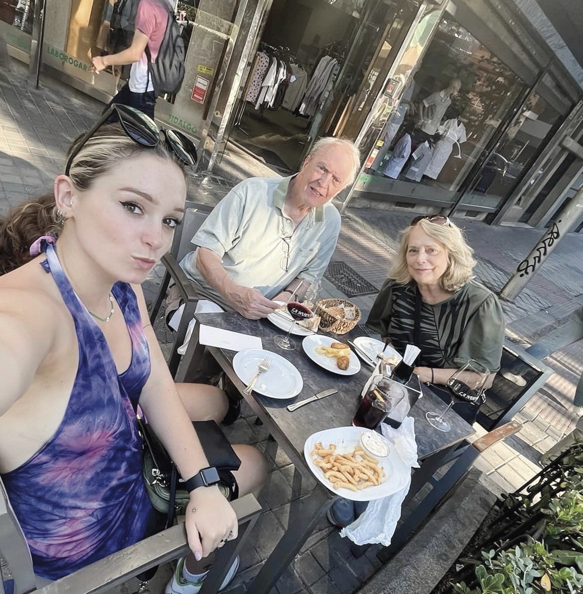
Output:
<svg viewBox="0 0 583 594">
<path fill-rule="evenodd" d="M 34 571 L 49 580 L 89 565 L 146 536 L 153 513 L 142 478 L 135 409 L 150 374 L 150 353 L 135 293 L 112 288 L 132 343 L 118 374 L 108 344 L 75 294 L 52 245 L 42 265 L 73 315 L 77 377 L 55 434 L 33 457 L 2 475 L 30 547 Z"/>
</svg>

